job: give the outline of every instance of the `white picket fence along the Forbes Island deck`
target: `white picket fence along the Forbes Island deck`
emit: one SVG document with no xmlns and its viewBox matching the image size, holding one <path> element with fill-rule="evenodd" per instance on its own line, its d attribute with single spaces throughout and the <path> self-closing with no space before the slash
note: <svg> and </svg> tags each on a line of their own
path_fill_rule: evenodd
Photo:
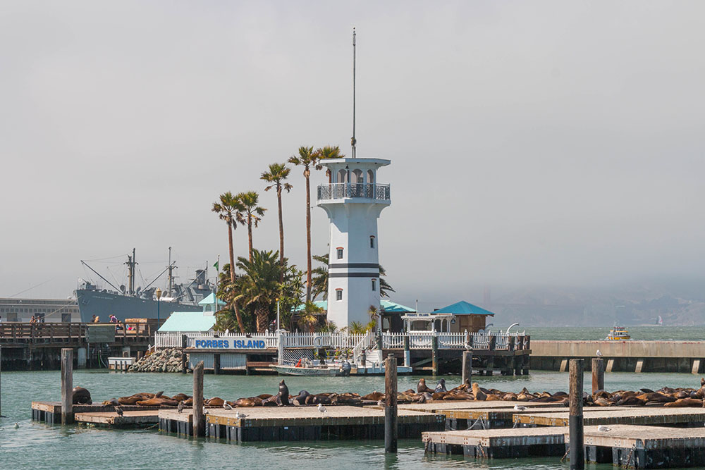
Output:
<svg viewBox="0 0 705 470">
<path fill-rule="evenodd" d="M 183 333 L 187 338 L 187 346 L 193 347 L 195 340 L 214 339 L 223 340 L 263 340 L 267 348 L 276 349 L 278 347 L 278 335 L 274 333 L 252 333 L 243 335 L 240 333 Z M 182 333 L 154 333 L 155 347 L 181 347 Z M 383 349 L 402 349 L 404 347 L 404 337 L 409 338 L 409 348 L 412 350 L 430 350 L 431 338 L 438 338 L 438 347 L 442 350 L 464 349 L 466 342 L 465 333 L 434 333 L 431 331 L 412 331 L 410 333 L 381 333 Z M 515 347 L 523 340 L 522 333 L 471 333 L 472 349 L 489 349 L 490 338 L 494 337 L 495 349 L 506 350 L 509 346 L 509 338 L 515 338 Z M 281 333 L 281 342 L 285 349 L 290 348 L 314 348 L 324 347 L 332 349 L 353 349 L 353 357 L 358 357 L 363 350 L 372 350 L 376 347 L 375 334 L 372 332 L 362 334 L 345 333 Z"/>
</svg>

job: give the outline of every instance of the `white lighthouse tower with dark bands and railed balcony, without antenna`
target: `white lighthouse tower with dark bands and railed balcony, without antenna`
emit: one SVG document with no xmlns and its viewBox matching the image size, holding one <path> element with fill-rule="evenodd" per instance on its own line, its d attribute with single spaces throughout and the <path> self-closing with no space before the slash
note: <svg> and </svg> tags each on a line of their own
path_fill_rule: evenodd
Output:
<svg viewBox="0 0 705 470">
<path fill-rule="evenodd" d="M 331 182 L 318 187 L 318 206 L 331 221 L 328 320 L 338 328 L 367 324 L 369 309 L 379 311 L 379 236 L 377 218 L 391 204 L 389 185 L 377 183 L 382 159 L 320 161 Z"/>
</svg>

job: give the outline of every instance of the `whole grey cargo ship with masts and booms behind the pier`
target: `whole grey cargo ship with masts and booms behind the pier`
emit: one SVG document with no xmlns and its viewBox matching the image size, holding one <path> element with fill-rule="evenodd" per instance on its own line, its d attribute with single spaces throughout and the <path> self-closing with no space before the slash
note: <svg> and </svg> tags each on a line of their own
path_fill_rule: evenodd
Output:
<svg viewBox="0 0 705 470">
<path fill-rule="evenodd" d="M 128 255 L 128 285 L 117 287 L 102 274 L 95 271 L 85 261 L 81 261 L 99 278 L 104 280 L 109 289 L 99 289 L 97 285 L 87 280 L 82 280 L 81 285 L 75 290 L 76 301 L 80 311 L 81 321 L 90 322 L 93 316 L 99 316 L 101 322 L 109 320 L 110 315 L 115 315 L 119 321 L 125 319 L 157 319 L 164 321 L 175 311 L 202 311 L 198 302 L 213 292 L 212 283 L 208 282 L 207 269 L 197 269 L 193 280 L 188 284 L 173 282 L 173 270 L 176 261 L 171 262 L 171 248 L 169 249 L 169 264 L 164 271 L 146 287 L 135 287 L 135 249 Z M 161 291 L 152 284 L 164 273 L 168 272 L 168 287 Z M 157 295 L 161 295 L 157 302 Z"/>
</svg>

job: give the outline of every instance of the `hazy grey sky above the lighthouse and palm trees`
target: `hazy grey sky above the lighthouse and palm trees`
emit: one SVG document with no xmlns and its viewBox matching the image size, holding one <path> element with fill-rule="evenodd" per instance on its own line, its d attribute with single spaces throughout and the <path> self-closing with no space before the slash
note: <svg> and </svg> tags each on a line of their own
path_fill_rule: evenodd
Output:
<svg viewBox="0 0 705 470">
<path fill-rule="evenodd" d="M 210 211 L 301 145 L 380 183 L 398 302 L 486 286 L 703 280 L 701 1 L 11 1 L 0 15 L 0 297 L 65 298 L 90 262 L 125 282 L 227 258 Z M 312 185 L 324 174 L 314 172 Z M 305 268 L 300 168 L 285 252 Z M 329 225 L 312 209 L 314 254 Z M 247 250 L 246 230 L 235 250 Z M 212 273 L 212 271 L 211 271 Z M 161 282 L 161 281 L 160 281 Z"/>
</svg>

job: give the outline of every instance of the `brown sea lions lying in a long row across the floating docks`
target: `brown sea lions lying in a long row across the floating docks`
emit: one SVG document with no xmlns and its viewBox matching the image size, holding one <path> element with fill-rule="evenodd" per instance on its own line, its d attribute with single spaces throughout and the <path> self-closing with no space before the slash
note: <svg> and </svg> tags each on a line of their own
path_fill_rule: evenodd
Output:
<svg viewBox="0 0 705 470">
<path fill-rule="evenodd" d="M 85 388 L 76 387 L 73 390 L 73 402 L 75 404 L 90 404 L 90 392 Z M 226 409 L 234 407 L 275 407 L 275 406 L 302 406 L 306 404 L 364 404 L 380 402 L 385 399 L 383 392 L 372 392 L 360 396 L 353 392 L 322 392 L 312 394 L 307 390 L 301 390 L 298 395 L 290 395 L 289 388 L 282 380 L 279 382 L 279 391 L 276 395 L 264 393 L 256 397 L 238 398 L 238 400 L 227 401 L 220 397 L 213 397 L 204 400 L 204 407 L 223 407 Z M 494 388 L 482 388 L 477 383 L 470 383 L 466 379 L 458 387 L 446 388 L 446 380 L 441 378 L 435 388 L 429 388 L 424 378 L 419 379 L 416 390 L 409 389 L 398 392 L 397 401 L 400 403 L 424 403 L 444 400 L 474 400 L 474 401 L 495 401 L 506 402 L 540 402 L 568 404 L 569 395 L 566 392 L 541 392 L 532 393 L 526 388 L 520 392 L 503 392 Z M 583 395 L 583 402 L 586 406 L 614 407 L 614 406 L 663 406 L 663 407 L 704 407 L 705 406 L 705 378 L 700 381 L 700 388 L 670 388 L 663 387 L 658 390 L 642 388 L 638 392 L 632 390 L 618 390 L 616 392 L 606 392 L 597 390 L 594 394 Z M 137 405 L 145 407 L 191 407 L 193 399 L 190 395 L 178 393 L 173 397 L 164 395 L 164 392 L 149 393 L 141 392 L 129 397 L 112 398 L 103 402 L 105 405 Z"/>
</svg>

